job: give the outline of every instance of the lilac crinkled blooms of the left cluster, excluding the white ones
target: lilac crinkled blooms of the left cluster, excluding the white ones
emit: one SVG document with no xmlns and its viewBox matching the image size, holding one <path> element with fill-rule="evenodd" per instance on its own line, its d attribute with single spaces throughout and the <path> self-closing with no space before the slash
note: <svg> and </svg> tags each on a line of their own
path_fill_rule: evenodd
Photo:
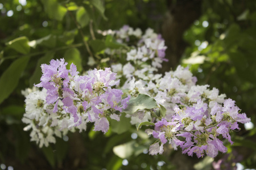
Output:
<svg viewBox="0 0 256 170">
<path fill-rule="evenodd" d="M 41 82 L 35 86 L 47 90 L 46 102 L 55 105 L 53 113 L 63 110 L 71 114 L 72 126 L 90 121 L 94 122 L 94 130 L 106 133 L 108 117 L 119 120 L 119 112 L 127 107 L 130 96 L 122 99 L 122 90 L 113 88 L 119 84 L 119 79 L 110 68 L 90 70 L 80 76 L 73 63 L 69 70 L 66 66 L 64 59 L 52 59 L 49 65 L 43 64 Z"/>
</svg>

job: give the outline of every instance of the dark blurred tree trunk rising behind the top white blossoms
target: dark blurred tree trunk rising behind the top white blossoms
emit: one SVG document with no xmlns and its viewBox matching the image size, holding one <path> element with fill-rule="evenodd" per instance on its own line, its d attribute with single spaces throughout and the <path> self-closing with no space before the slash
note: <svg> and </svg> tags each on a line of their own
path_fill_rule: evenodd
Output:
<svg viewBox="0 0 256 170">
<path fill-rule="evenodd" d="M 183 40 L 184 32 L 201 16 L 201 0 L 168 1 L 168 12 L 162 25 L 162 35 L 166 41 L 166 58 L 162 73 L 169 71 L 179 64 L 187 43 Z M 170 68 L 171 67 L 171 68 Z"/>
</svg>

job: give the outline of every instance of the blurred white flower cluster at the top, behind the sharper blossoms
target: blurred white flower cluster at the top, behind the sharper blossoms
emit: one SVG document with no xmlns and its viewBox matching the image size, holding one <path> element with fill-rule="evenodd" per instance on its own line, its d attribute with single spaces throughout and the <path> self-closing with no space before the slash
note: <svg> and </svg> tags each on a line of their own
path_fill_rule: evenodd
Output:
<svg viewBox="0 0 256 170">
<path fill-rule="evenodd" d="M 127 82 L 133 76 L 147 82 L 159 77 L 159 74 L 154 73 L 162 67 L 163 61 L 168 61 L 164 58 L 167 46 L 164 45 L 161 35 L 156 34 L 151 28 L 142 34 L 141 29 L 134 30 L 128 25 L 124 25 L 118 31 L 105 31 L 102 34 L 112 35 L 117 42 L 130 47 L 129 50 L 109 48 L 105 50 L 107 54 L 119 56 L 118 61 L 112 64 L 112 70 L 118 73 L 118 76 L 125 76 Z M 120 53 L 124 54 L 119 55 Z M 122 58 L 125 58 L 125 61 L 120 63 L 123 61 Z"/>
</svg>

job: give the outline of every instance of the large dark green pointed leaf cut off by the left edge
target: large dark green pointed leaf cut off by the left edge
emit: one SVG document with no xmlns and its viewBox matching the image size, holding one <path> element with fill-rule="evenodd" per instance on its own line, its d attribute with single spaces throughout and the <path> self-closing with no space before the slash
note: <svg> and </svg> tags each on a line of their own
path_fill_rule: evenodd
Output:
<svg viewBox="0 0 256 170">
<path fill-rule="evenodd" d="M 30 57 L 27 56 L 16 59 L 2 74 L 0 78 L 0 104 L 11 94 L 11 92 L 14 91 L 15 87 L 18 85 L 20 75 L 26 68 L 29 60 Z"/>
</svg>

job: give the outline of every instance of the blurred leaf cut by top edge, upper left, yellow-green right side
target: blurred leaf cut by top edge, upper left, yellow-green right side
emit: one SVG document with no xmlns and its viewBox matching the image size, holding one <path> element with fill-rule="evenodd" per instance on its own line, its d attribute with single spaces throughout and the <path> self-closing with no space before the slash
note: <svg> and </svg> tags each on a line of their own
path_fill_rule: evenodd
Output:
<svg viewBox="0 0 256 170">
<path fill-rule="evenodd" d="M 67 9 L 56 0 L 41 0 L 44 5 L 44 10 L 48 14 L 49 18 L 61 21 L 67 12 Z"/>
</svg>

